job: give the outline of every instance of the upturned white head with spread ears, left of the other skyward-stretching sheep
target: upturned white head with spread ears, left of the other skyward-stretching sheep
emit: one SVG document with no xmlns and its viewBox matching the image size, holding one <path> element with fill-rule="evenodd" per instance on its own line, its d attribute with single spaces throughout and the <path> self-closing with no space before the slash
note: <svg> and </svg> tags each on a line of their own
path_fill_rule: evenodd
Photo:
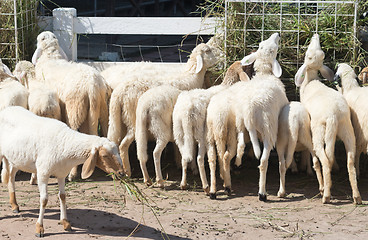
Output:
<svg viewBox="0 0 368 240">
<path fill-rule="evenodd" d="M 241 63 L 242 65 L 250 65 L 254 63 L 256 72 L 267 73 L 272 71 L 276 77 L 280 77 L 282 69 L 276 60 L 277 50 L 279 48 L 280 35 L 278 33 L 272 34 L 267 40 L 259 44 L 258 50 L 245 56 Z"/>
</svg>

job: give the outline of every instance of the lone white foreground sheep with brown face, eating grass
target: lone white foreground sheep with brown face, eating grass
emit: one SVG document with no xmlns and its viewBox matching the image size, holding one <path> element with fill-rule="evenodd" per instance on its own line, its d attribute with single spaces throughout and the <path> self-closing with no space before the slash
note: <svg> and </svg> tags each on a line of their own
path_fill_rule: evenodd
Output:
<svg viewBox="0 0 368 240">
<path fill-rule="evenodd" d="M 43 218 L 48 200 L 50 176 L 58 179 L 60 221 L 64 230 L 71 225 L 66 214 L 65 177 L 72 167 L 83 164 L 82 178 L 88 178 L 95 166 L 107 173 L 121 174 L 122 162 L 117 146 L 98 136 L 79 133 L 64 123 L 39 117 L 21 107 L 8 107 L 0 112 L 1 179 L 8 184 L 13 212 L 19 212 L 15 198 L 15 174 L 18 170 L 37 173 L 40 191 L 40 214 L 36 236 L 44 236 Z"/>
</svg>

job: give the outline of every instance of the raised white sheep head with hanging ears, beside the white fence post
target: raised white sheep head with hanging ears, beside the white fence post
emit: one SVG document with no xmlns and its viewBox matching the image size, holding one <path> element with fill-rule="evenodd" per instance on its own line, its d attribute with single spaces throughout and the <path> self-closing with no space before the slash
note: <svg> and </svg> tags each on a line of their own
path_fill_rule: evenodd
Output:
<svg viewBox="0 0 368 240">
<path fill-rule="evenodd" d="M 61 57 L 68 60 L 63 49 L 59 46 L 59 41 L 57 40 L 55 34 L 50 31 L 44 31 L 37 36 L 37 49 L 33 53 L 32 63 L 36 65 L 37 60 L 40 58 L 42 52 L 44 51 L 55 51 L 58 50 Z"/>
</svg>

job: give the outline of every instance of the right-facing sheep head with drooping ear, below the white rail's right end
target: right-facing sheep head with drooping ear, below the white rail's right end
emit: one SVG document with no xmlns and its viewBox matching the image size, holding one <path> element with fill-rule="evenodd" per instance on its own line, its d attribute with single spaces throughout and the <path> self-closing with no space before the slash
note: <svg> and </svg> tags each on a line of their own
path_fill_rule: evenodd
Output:
<svg viewBox="0 0 368 240">
<path fill-rule="evenodd" d="M 190 55 L 190 61 L 195 62 L 195 73 L 199 73 L 202 70 L 206 71 L 217 63 L 218 59 L 215 51 L 215 48 L 205 43 L 201 43 L 193 49 Z"/>
</svg>

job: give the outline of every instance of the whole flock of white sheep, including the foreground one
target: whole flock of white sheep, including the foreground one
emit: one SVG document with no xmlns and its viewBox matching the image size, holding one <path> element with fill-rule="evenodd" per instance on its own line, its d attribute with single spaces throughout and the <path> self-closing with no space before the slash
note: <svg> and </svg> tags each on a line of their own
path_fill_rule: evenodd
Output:
<svg viewBox="0 0 368 240">
<path fill-rule="evenodd" d="M 236 157 L 235 164 L 241 165 L 245 145 L 251 143 L 260 160 L 259 199 L 266 201 L 272 148 L 276 147 L 279 157 L 279 197 L 286 195 L 286 169 L 296 168 L 294 152 L 304 151 L 306 169 L 312 174 L 311 154 L 322 202 L 328 203 L 334 146 L 340 138 L 347 153 L 353 199 L 361 204 L 357 176 L 359 156 L 368 150 L 368 109 L 360 102 L 366 100 L 368 92 L 359 86 L 349 65 L 340 64 L 334 74 L 323 64 L 324 53 L 315 34 L 295 76 L 300 102 L 289 102 L 276 60 L 279 39 L 274 33 L 256 52 L 233 63 L 220 85 L 202 89 L 207 69 L 220 58 L 215 38 L 195 47 L 184 67 L 141 62 L 100 73 L 85 64 L 69 62 L 55 35 L 42 32 L 32 63 L 19 62 L 13 73 L 0 65 L 1 176 L 8 184 L 12 210 L 19 211 L 15 174 L 18 170 L 31 172 L 31 184 L 37 182 L 40 191 L 36 236 L 42 237 L 47 183 L 55 176 L 60 221 L 70 230 L 65 178 L 69 174 L 73 180 L 79 164 L 83 164 L 83 179 L 91 176 L 95 166 L 107 173 L 130 176 L 128 149 L 134 140 L 145 184 L 152 184 L 146 167 L 148 141 L 156 142 L 153 159 L 159 187 L 164 187 L 162 151 L 168 142 L 175 142 L 181 155 L 180 187 L 187 187 L 188 164 L 195 169 L 196 158 L 202 187 L 212 199 L 216 198 L 216 159 L 225 192 L 230 194 L 230 161 Z M 322 84 L 318 72 L 328 80 L 339 77 L 339 91 Z M 366 79 L 366 75 L 361 73 L 361 78 Z M 97 136 L 99 126 L 107 138 Z"/>
</svg>

